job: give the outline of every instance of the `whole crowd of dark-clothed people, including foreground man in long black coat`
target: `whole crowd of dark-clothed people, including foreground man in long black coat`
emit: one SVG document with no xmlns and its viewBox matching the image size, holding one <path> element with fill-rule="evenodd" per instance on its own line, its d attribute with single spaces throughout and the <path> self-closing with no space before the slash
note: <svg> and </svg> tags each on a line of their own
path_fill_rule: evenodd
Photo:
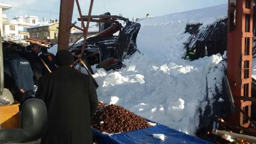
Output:
<svg viewBox="0 0 256 144">
<path fill-rule="evenodd" d="M 96 89 L 89 75 L 73 69 L 69 50 L 59 50 L 55 56 L 35 44 L 21 47 L 4 42 L 3 60 L 4 87 L 21 107 L 30 98 L 45 102 L 47 131 L 41 144 L 93 143 L 90 121 L 98 105 Z"/>
</svg>

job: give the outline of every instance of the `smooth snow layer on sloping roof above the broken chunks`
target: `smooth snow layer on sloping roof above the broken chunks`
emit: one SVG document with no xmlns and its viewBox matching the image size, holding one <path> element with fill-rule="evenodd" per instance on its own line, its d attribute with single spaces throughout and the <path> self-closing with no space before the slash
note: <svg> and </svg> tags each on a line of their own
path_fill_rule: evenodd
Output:
<svg viewBox="0 0 256 144">
<path fill-rule="evenodd" d="M 187 24 L 207 26 L 227 17 L 227 4 L 185 11 L 160 17 L 142 19 L 137 46 L 144 54 L 162 61 L 173 61 L 184 56 L 183 43 L 189 34 L 183 34 Z"/>
</svg>

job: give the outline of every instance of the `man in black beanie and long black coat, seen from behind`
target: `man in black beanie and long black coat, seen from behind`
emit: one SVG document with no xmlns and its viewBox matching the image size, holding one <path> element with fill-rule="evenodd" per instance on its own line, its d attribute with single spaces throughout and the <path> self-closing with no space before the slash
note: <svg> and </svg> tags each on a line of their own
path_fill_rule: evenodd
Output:
<svg viewBox="0 0 256 144">
<path fill-rule="evenodd" d="M 72 68 L 69 50 L 56 54 L 57 68 L 39 79 L 36 98 L 47 107 L 48 129 L 41 144 L 92 144 L 90 121 L 98 98 L 89 75 Z"/>
</svg>

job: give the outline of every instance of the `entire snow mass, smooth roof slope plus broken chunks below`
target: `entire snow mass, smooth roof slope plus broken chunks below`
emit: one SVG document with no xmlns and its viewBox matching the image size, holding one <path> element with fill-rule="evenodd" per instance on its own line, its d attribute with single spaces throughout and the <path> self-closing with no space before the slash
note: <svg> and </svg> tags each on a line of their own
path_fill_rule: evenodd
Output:
<svg viewBox="0 0 256 144">
<path fill-rule="evenodd" d="M 194 135 L 201 108 L 215 89 L 222 90 L 222 57 L 214 55 L 189 62 L 184 42 L 186 24 L 212 24 L 226 18 L 227 5 L 141 19 L 135 53 L 123 63 L 126 68 L 106 72 L 93 68 L 99 84 L 98 98 L 118 104 L 144 118 Z M 207 83 L 208 81 L 208 83 Z"/>
</svg>

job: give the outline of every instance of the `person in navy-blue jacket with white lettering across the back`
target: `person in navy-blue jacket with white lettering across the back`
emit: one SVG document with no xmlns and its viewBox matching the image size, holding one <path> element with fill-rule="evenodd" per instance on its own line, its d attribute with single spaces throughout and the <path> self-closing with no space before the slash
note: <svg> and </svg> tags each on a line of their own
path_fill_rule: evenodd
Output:
<svg viewBox="0 0 256 144">
<path fill-rule="evenodd" d="M 30 62 L 21 57 L 16 48 L 11 47 L 10 49 L 12 50 L 8 62 L 14 82 L 14 98 L 22 106 L 25 99 L 32 98 L 34 90 L 33 72 Z"/>
</svg>

